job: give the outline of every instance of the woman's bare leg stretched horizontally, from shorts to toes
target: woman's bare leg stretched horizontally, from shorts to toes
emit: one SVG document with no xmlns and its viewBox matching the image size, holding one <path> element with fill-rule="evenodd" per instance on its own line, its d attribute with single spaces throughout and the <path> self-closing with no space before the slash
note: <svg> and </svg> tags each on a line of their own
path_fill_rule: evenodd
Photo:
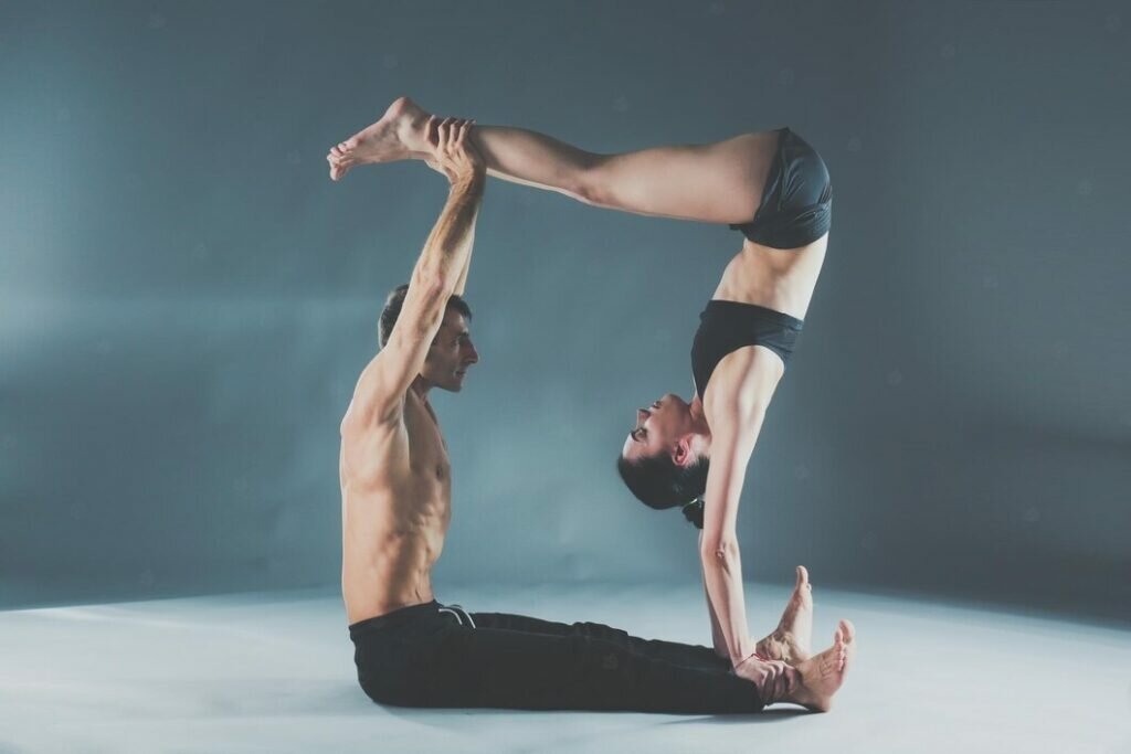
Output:
<svg viewBox="0 0 1131 754">
<path fill-rule="evenodd" d="M 400 97 L 372 125 L 327 155 L 330 177 L 362 164 L 425 159 L 429 113 Z M 476 125 L 487 171 L 513 183 L 638 215 L 745 223 L 761 202 L 777 135 L 745 133 L 707 145 L 598 155 L 517 128 Z"/>
</svg>

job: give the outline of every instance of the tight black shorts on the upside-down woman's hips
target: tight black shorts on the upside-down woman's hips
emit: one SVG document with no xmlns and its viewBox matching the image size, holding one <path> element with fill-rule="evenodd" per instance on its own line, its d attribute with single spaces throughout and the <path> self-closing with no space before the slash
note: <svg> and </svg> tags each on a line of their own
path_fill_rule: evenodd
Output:
<svg viewBox="0 0 1131 754">
<path fill-rule="evenodd" d="M 832 183 L 824 161 L 800 136 L 778 129 L 762 203 L 754 219 L 731 227 L 763 246 L 797 249 L 820 239 L 831 225 Z"/>
</svg>

